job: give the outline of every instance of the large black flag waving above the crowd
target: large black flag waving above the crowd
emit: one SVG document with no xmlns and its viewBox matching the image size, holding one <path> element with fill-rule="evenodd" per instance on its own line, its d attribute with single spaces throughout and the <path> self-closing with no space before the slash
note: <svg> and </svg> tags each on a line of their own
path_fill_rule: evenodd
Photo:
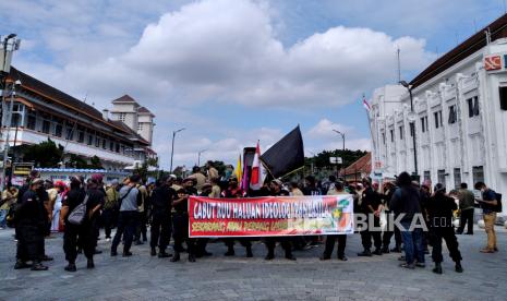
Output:
<svg viewBox="0 0 507 301">
<path fill-rule="evenodd" d="M 299 125 L 267 149 L 261 160 L 275 178 L 283 177 L 304 166 L 303 137 Z"/>
</svg>

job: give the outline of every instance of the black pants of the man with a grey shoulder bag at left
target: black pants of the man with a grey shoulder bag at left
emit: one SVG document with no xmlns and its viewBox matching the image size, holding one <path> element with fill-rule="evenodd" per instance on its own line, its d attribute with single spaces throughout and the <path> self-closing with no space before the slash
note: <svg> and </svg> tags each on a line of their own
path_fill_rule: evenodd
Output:
<svg viewBox="0 0 507 301">
<path fill-rule="evenodd" d="M 85 222 L 81 226 L 75 226 L 68 222 L 65 225 L 63 252 L 65 252 L 65 260 L 69 263 L 75 263 L 77 246 L 83 250 L 86 258 L 92 260 L 94 257 L 97 238 L 93 224 Z"/>
</svg>

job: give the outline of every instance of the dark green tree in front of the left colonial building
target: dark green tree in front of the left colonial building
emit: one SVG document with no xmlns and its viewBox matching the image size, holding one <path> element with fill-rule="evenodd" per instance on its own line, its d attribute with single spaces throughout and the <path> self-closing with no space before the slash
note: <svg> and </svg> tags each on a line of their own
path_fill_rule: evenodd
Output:
<svg viewBox="0 0 507 301">
<path fill-rule="evenodd" d="M 33 161 L 37 167 L 58 167 L 63 157 L 63 146 L 48 139 L 39 144 L 28 145 L 22 149 L 23 160 Z"/>
</svg>

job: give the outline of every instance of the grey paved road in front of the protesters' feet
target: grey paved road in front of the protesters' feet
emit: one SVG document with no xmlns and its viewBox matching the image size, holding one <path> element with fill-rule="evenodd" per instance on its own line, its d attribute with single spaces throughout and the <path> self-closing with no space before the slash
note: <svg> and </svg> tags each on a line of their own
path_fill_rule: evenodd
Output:
<svg viewBox="0 0 507 301">
<path fill-rule="evenodd" d="M 146 245 L 134 246 L 132 257 L 112 258 L 101 240 L 106 252 L 97 255 L 96 268 L 87 270 L 80 257 L 71 274 L 63 270 L 61 236 L 46 242 L 56 258 L 48 272 L 14 270 L 12 230 L 0 230 L 0 300 L 507 300 L 507 232 L 498 233 L 496 254 L 479 253 L 484 242 L 479 229 L 460 236 L 464 273 L 455 273 L 446 256 L 444 275 L 434 275 L 431 266 L 399 268 L 398 254 L 355 256 L 358 234 L 349 237 L 345 263 L 318 261 L 322 246 L 295 252 L 297 262 L 277 250 L 278 257 L 265 262 L 262 243 L 254 245 L 254 258 L 245 258 L 239 245 L 236 257 L 224 257 L 222 243 L 210 244 L 215 256 L 196 263 L 150 257 Z"/>
</svg>

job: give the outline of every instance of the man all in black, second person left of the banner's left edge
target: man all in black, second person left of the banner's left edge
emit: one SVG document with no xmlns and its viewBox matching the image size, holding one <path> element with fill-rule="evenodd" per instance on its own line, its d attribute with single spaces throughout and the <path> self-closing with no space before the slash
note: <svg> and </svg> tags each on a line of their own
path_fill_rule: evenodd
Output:
<svg viewBox="0 0 507 301">
<path fill-rule="evenodd" d="M 171 238 L 171 208 L 172 200 L 178 195 L 172 185 L 172 178 L 162 178 L 156 182 L 156 188 L 152 193 L 152 256 L 170 257 L 166 252 L 169 239 Z"/>
</svg>

